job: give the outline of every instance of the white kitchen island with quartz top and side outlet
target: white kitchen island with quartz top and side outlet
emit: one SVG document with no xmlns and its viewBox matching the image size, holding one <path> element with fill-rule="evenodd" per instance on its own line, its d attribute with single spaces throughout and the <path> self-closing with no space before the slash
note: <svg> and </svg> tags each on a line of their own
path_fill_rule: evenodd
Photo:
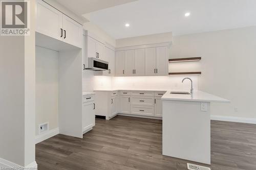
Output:
<svg viewBox="0 0 256 170">
<path fill-rule="evenodd" d="M 228 100 L 202 91 L 162 96 L 163 155 L 210 164 L 210 103 Z"/>
</svg>

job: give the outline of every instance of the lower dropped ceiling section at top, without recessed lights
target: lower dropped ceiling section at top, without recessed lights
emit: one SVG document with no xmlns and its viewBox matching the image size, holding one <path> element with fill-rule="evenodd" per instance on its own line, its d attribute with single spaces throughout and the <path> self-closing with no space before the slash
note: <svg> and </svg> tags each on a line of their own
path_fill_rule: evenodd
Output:
<svg viewBox="0 0 256 170">
<path fill-rule="evenodd" d="M 56 0 L 78 16 L 138 0 Z"/>
</svg>

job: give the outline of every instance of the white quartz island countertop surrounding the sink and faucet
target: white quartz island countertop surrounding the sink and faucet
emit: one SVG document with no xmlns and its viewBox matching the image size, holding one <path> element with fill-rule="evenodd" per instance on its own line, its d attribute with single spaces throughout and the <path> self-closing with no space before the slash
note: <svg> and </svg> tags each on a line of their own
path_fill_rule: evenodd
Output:
<svg viewBox="0 0 256 170">
<path fill-rule="evenodd" d="M 173 90 L 175 91 L 175 90 Z M 229 100 L 220 98 L 216 95 L 212 95 L 203 91 L 195 90 L 194 94 L 170 94 L 171 90 L 168 90 L 163 96 L 162 100 L 170 101 L 194 101 L 194 102 L 220 102 L 229 103 Z"/>
</svg>

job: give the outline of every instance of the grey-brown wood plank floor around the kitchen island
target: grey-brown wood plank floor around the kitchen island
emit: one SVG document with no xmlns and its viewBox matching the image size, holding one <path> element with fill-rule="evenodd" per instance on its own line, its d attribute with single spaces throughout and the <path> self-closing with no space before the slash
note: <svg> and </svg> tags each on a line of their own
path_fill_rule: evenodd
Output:
<svg viewBox="0 0 256 170">
<path fill-rule="evenodd" d="M 187 169 L 162 156 L 162 121 L 116 116 L 96 119 L 83 139 L 56 135 L 36 144 L 39 170 Z M 193 163 L 193 162 L 192 162 Z M 256 169 L 256 125 L 211 121 L 211 169 Z"/>
</svg>

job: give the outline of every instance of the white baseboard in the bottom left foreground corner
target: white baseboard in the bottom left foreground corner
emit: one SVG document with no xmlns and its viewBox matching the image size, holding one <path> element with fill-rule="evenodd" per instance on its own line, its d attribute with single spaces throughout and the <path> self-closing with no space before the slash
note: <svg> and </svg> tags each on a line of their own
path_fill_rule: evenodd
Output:
<svg viewBox="0 0 256 170">
<path fill-rule="evenodd" d="M 28 168 L 37 169 L 37 163 L 36 163 L 36 161 L 34 161 L 34 162 L 28 164 L 27 166 L 20 166 L 16 163 L 13 163 L 8 160 L 0 158 L 0 169 L 7 169 L 7 168 L 12 169 L 10 167 L 14 167 L 15 169 L 28 169 Z"/>
</svg>

